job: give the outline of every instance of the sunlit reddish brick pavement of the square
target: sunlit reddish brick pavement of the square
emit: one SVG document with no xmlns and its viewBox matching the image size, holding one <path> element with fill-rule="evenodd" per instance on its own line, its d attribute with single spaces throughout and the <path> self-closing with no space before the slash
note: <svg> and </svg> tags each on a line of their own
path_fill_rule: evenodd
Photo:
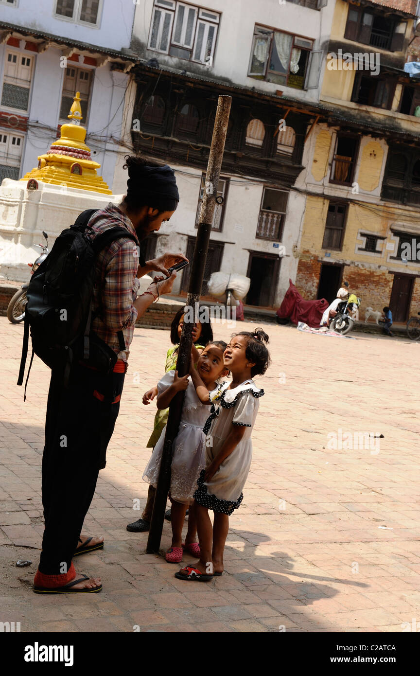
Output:
<svg viewBox="0 0 420 676">
<path fill-rule="evenodd" d="M 103 592 L 45 598 L 30 584 L 43 532 L 49 370 L 34 361 L 24 404 L 16 387 L 23 327 L 0 318 L 0 621 L 19 621 L 21 631 L 386 632 L 420 620 L 420 346 L 266 330 L 273 365 L 259 379 L 266 395 L 244 502 L 230 519 L 227 574 L 207 585 L 178 581 L 177 566 L 145 554 L 147 534 L 126 531 L 140 514 L 133 500 L 142 506 L 147 493 L 142 470 L 155 408 L 142 406 L 141 396 L 161 376 L 169 343 L 165 331 L 136 329 L 84 528 L 105 535 L 105 549 L 76 560 L 79 572 L 101 575 Z M 230 331 L 217 325 L 215 336 Z M 340 429 L 381 433 L 379 452 L 329 448 L 328 435 Z M 165 522 L 162 548 L 169 543 Z M 32 567 L 16 568 L 18 558 Z"/>
</svg>

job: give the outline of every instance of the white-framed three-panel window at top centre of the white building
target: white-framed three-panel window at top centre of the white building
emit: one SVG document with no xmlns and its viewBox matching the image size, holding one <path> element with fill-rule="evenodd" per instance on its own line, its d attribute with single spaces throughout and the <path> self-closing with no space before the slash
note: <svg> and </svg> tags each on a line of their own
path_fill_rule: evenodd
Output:
<svg viewBox="0 0 420 676">
<path fill-rule="evenodd" d="M 213 64 L 220 14 L 177 0 L 155 0 L 149 49 L 178 59 Z"/>
</svg>

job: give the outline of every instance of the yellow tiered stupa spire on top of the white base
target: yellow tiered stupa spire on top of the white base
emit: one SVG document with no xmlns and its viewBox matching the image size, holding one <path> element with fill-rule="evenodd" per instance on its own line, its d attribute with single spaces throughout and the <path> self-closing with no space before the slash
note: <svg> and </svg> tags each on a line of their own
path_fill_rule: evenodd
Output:
<svg viewBox="0 0 420 676">
<path fill-rule="evenodd" d="M 61 126 L 60 138 L 51 143 L 45 155 L 38 156 L 38 167 L 20 180 L 35 179 L 43 183 L 110 195 L 111 190 L 105 180 L 97 174 L 101 165 L 93 162 L 90 149 L 84 143 L 86 129 L 80 126 L 82 120 L 80 92 L 74 97 L 68 118 L 70 122 Z"/>
</svg>

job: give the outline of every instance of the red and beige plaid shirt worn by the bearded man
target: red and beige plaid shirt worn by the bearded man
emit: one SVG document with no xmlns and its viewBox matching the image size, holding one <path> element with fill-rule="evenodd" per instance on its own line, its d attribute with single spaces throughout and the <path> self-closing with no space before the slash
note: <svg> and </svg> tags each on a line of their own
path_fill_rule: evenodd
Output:
<svg viewBox="0 0 420 676">
<path fill-rule="evenodd" d="M 136 235 L 130 218 L 109 202 L 108 206 L 93 214 L 89 226 L 99 234 L 108 228 L 122 226 Z M 137 236 L 136 236 L 137 237 Z M 138 243 L 138 242 L 137 242 Z M 99 312 L 93 319 L 92 329 L 124 362 L 130 353 L 137 310 L 133 306 L 138 291 L 138 255 L 136 243 L 121 237 L 100 251 L 93 291 L 92 311 Z M 123 332 L 126 351 L 120 352 L 117 331 Z"/>
</svg>

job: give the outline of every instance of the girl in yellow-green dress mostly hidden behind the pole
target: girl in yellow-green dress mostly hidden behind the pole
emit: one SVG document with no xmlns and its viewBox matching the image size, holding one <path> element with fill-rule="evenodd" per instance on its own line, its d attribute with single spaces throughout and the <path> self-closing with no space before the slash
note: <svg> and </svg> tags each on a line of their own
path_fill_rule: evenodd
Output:
<svg viewBox="0 0 420 676">
<path fill-rule="evenodd" d="M 203 313 L 203 316 L 205 318 L 206 316 L 205 313 Z M 172 345 L 174 345 L 174 347 L 169 347 L 167 351 L 165 373 L 167 373 L 170 370 L 176 369 L 176 360 L 178 359 L 178 346 L 180 342 L 183 323 L 184 323 L 184 308 L 181 308 L 174 316 L 174 319 L 172 320 L 171 324 L 170 340 Z M 213 330 L 211 329 L 210 320 L 208 322 L 205 321 L 196 322 L 196 324 L 194 324 L 194 328 L 192 329 L 192 341 L 196 349 L 204 349 L 204 346 L 207 345 L 207 343 L 209 343 L 209 341 L 212 340 L 213 340 Z M 149 391 L 145 392 L 145 394 L 143 395 L 143 404 L 147 406 L 147 404 L 150 404 L 150 402 L 153 401 L 153 399 L 156 396 L 157 396 L 157 387 L 152 387 L 151 389 L 149 389 Z M 146 448 L 152 449 L 155 448 L 155 445 L 157 444 L 157 441 L 159 441 L 159 437 L 161 436 L 162 430 L 167 423 L 168 412 L 169 408 L 157 410 L 157 413 L 155 415 L 153 432 L 151 433 L 151 437 L 147 442 Z M 147 502 L 145 509 L 143 510 L 142 516 L 141 518 L 138 519 L 138 521 L 134 521 L 134 523 L 128 524 L 127 526 L 128 531 L 130 531 L 131 533 L 144 533 L 145 531 L 149 531 L 154 501 L 155 501 L 155 488 L 151 484 L 149 486 L 149 491 L 147 493 Z M 170 510 L 168 511 L 170 513 Z"/>
</svg>

